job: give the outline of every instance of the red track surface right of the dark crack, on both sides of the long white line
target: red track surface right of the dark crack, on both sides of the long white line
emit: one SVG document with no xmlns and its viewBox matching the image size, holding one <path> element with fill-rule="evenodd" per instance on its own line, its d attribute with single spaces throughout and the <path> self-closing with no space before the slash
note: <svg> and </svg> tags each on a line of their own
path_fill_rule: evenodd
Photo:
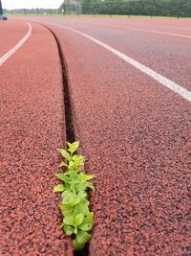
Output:
<svg viewBox="0 0 191 256">
<path fill-rule="evenodd" d="M 190 36 L 190 20 L 30 19 L 92 35 L 191 89 L 191 39 L 138 30 Z M 89 254 L 190 255 L 190 103 L 89 39 L 46 26 L 66 59 L 86 170 L 97 176 Z"/>
</svg>

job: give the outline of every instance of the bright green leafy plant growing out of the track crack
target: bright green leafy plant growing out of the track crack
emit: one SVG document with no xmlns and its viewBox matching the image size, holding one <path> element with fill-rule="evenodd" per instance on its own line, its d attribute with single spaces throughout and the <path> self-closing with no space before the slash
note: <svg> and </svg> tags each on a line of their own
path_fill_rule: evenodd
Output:
<svg viewBox="0 0 191 256">
<path fill-rule="evenodd" d="M 67 236 L 72 236 L 74 249 L 80 250 L 91 239 L 88 232 L 94 225 L 94 213 L 89 210 L 87 191 L 91 189 L 95 193 L 95 187 L 89 181 L 96 175 L 84 173 L 85 158 L 75 153 L 79 142 L 67 143 L 67 145 L 67 151 L 58 150 L 64 158 L 59 167 L 64 167 L 67 172 L 56 175 L 63 183 L 55 186 L 53 192 L 61 193 L 60 210 L 63 221 L 60 228 Z"/>
</svg>

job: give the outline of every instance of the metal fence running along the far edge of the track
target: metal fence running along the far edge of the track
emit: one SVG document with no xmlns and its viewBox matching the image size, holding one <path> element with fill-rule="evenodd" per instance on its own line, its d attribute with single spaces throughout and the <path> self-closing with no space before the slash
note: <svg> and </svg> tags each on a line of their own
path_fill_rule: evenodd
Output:
<svg viewBox="0 0 191 256">
<path fill-rule="evenodd" d="M 35 15 L 145 15 L 145 16 L 172 16 L 191 17 L 191 0 L 121 0 L 95 2 L 89 4 L 63 5 L 59 9 L 20 9 L 4 10 L 8 14 L 35 14 Z"/>
</svg>

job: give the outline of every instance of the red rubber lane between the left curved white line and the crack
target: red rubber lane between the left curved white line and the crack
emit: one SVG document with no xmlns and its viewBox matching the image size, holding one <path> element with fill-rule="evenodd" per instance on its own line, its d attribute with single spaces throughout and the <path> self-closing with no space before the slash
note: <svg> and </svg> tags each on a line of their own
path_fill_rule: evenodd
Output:
<svg viewBox="0 0 191 256">
<path fill-rule="evenodd" d="M 32 30 L 0 68 L 0 255 L 70 256 L 53 195 L 56 149 L 65 140 L 60 60 L 53 35 L 40 25 Z"/>
</svg>

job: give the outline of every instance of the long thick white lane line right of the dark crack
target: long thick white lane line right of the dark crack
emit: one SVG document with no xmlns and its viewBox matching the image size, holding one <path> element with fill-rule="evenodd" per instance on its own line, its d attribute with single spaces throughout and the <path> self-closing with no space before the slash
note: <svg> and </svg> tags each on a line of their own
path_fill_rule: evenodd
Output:
<svg viewBox="0 0 191 256">
<path fill-rule="evenodd" d="M 50 22 L 45 22 L 45 23 L 52 24 L 52 25 L 58 26 L 58 27 L 62 27 L 64 29 L 67 29 L 69 31 L 72 31 L 72 32 L 78 34 L 78 35 L 82 35 L 82 36 L 90 39 L 91 41 L 95 42 L 96 44 L 98 44 L 98 45 L 102 46 L 103 48 L 107 49 L 109 52 L 115 54 L 117 57 L 122 58 L 123 60 L 125 60 L 126 62 L 131 64 L 132 66 L 138 68 L 138 70 L 145 73 L 149 77 L 153 78 L 155 81 L 159 81 L 159 83 L 161 83 L 165 87 L 167 87 L 167 88 L 171 89 L 172 91 L 178 93 L 181 97 L 183 97 L 187 101 L 191 102 L 191 92 L 190 91 L 186 90 L 184 87 L 180 86 L 178 83 L 176 83 L 174 81 L 171 81 L 171 80 L 161 76 L 159 73 L 157 73 L 156 71 L 152 70 L 151 68 L 146 67 L 145 65 L 139 63 L 137 60 L 122 54 L 121 52 L 117 51 L 115 48 L 97 40 L 96 38 L 94 38 L 90 35 L 87 35 L 87 34 L 84 34 L 82 32 L 71 29 L 70 27 L 66 27 L 66 26 L 63 26 L 63 25 L 50 23 Z"/>
</svg>

